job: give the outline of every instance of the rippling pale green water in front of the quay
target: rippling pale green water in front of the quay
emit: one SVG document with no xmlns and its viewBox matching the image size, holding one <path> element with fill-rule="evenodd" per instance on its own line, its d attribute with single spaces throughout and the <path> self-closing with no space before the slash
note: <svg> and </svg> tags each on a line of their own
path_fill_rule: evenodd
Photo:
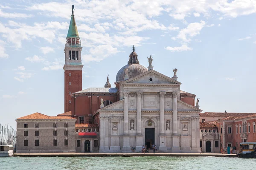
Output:
<svg viewBox="0 0 256 170">
<path fill-rule="evenodd" d="M 256 170 L 256 159 L 218 157 L 9 157 L 0 170 Z"/>
</svg>

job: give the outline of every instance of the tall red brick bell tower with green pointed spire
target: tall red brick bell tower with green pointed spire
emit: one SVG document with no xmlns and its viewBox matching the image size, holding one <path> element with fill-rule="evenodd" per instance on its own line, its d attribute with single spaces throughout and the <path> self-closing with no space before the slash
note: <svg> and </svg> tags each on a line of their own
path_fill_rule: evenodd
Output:
<svg viewBox="0 0 256 170">
<path fill-rule="evenodd" d="M 76 28 L 74 6 L 64 49 L 64 111 L 71 111 L 71 94 L 82 90 L 81 41 Z"/>
</svg>

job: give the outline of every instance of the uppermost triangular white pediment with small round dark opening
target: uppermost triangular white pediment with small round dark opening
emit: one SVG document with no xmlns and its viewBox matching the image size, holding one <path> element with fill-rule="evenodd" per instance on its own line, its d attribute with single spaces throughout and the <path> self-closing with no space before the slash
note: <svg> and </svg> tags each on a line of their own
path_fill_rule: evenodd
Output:
<svg viewBox="0 0 256 170">
<path fill-rule="evenodd" d="M 181 83 L 163 75 L 157 71 L 149 70 L 143 74 L 140 74 L 134 78 L 125 80 L 122 84 L 157 84 L 157 85 L 180 85 Z"/>
</svg>

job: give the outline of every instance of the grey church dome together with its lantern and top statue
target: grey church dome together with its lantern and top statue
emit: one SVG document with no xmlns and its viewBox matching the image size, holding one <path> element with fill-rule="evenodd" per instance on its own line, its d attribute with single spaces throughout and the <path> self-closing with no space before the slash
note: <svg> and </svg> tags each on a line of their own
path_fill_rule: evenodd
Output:
<svg viewBox="0 0 256 170">
<path fill-rule="evenodd" d="M 129 79 L 136 77 L 139 74 L 142 74 L 146 71 L 148 71 L 147 68 L 145 68 L 143 65 L 140 65 L 140 62 L 138 60 L 138 55 L 135 52 L 135 48 L 133 46 L 133 52 L 131 52 L 130 56 L 129 56 L 129 61 L 128 64 L 123 66 L 118 73 L 116 74 L 116 82 L 120 82 L 120 81 L 124 81 L 124 77 L 125 77 L 125 69 L 128 68 L 127 73 L 129 76 Z"/>
</svg>

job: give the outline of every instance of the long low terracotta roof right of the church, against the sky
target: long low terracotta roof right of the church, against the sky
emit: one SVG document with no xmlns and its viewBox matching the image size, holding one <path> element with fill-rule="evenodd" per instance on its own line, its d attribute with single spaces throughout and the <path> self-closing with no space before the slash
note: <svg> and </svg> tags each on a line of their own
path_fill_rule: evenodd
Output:
<svg viewBox="0 0 256 170">
<path fill-rule="evenodd" d="M 249 116 L 256 113 L 219 113 L 219 112 L 205 112 L 200 113 L 200 117 L 241 117 L 241 116 Z"/>
</svg>

